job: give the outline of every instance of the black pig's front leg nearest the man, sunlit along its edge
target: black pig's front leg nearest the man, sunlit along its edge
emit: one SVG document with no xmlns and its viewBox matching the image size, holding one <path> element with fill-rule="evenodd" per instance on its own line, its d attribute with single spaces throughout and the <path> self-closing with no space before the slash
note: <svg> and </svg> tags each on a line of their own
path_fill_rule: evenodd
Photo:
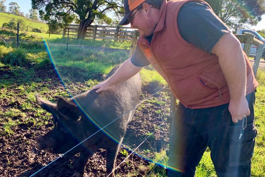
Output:
<svg viewBox="0 0 265 177">
<path fill-rule="evenodd" d="M 116 161 L 120 147 L 121 147 L 120 144 L 113 143 L 112 146 L 109 146 L 107 148 L 107 165 L 106 165 L 107 173 L 106 173 L 106 177 L 111 173 L 112 174 L 109 175 L 109 177 L 115 177 L 113 170 L 115 167 L 115 161 Z"/>
</svg>

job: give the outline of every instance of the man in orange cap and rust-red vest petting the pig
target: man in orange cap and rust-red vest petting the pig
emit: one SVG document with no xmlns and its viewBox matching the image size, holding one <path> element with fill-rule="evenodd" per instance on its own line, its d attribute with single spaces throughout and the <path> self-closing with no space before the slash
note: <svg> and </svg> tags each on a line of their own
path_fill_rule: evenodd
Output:
<svg viewBox="0 0 265 177">
<path fill-rule="evenodd" d="M 202 0 L 125 0 L 140 38 L 131 58 L 96 92 L 152 66 L 180 103 L 172 121 L 169 177 L 195 175 L 207 147 L 218 177 L 250 177 L 255 80 L 240 42 Z"/>
</svg>

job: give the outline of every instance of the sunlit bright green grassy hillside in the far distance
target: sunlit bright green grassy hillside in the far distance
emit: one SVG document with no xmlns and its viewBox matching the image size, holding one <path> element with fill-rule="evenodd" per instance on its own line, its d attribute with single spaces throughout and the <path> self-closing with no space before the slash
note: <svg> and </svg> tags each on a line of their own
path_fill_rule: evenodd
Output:
<svg viewBox="0 0 265 177">
<path fill-rule="evenodd" d="M 44 22 L 41 22 L 38 20 L 32 20 L 26 17 L 20 17 L 20 16 L 13 15 L 13 14 L 6 14 L 2 12 L 0 12 L 0 19 L 1 19 L 0 27 L 2 27 L 3 23 L 8 23 L 12 18 L 24 20 L 26 25 L 28 26 L 29 32 L 32 31 L 32 29 L 36 29 L 36 28 L 38 28 L 39 30 L 42 30 L 42 33 L 45 33 L 48 30 L 48 25 Z"/>
</svg>

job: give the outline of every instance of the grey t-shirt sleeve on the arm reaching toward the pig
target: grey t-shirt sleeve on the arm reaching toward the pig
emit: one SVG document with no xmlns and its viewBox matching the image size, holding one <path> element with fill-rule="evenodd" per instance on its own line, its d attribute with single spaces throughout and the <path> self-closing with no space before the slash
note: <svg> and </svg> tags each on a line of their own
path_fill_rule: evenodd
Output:
<svg viewBox="0 0 265 177">
<path fill-rule="evenodd" d="M 145 58 L 143 52 L 140 50 L 138 45 L 136 45 L 135 51 L 133 52 L 131 62 L 133 63 L 134 66 L 138 67 L 144 67 L 150 65 L 150 63 Z"/>
</svg>

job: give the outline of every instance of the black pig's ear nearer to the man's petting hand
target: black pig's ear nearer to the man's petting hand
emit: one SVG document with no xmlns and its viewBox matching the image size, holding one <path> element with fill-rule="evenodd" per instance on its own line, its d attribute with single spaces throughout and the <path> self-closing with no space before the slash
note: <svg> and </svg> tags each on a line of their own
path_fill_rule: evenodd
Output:
<svg viewBox="0 0 265 177">
<path fill-rule="evenodd" d="M 57 99 L 57 111 L 66 120 L 77 120 L 80 117 L 78 107 L 63 97 Z"/>
</svg>

